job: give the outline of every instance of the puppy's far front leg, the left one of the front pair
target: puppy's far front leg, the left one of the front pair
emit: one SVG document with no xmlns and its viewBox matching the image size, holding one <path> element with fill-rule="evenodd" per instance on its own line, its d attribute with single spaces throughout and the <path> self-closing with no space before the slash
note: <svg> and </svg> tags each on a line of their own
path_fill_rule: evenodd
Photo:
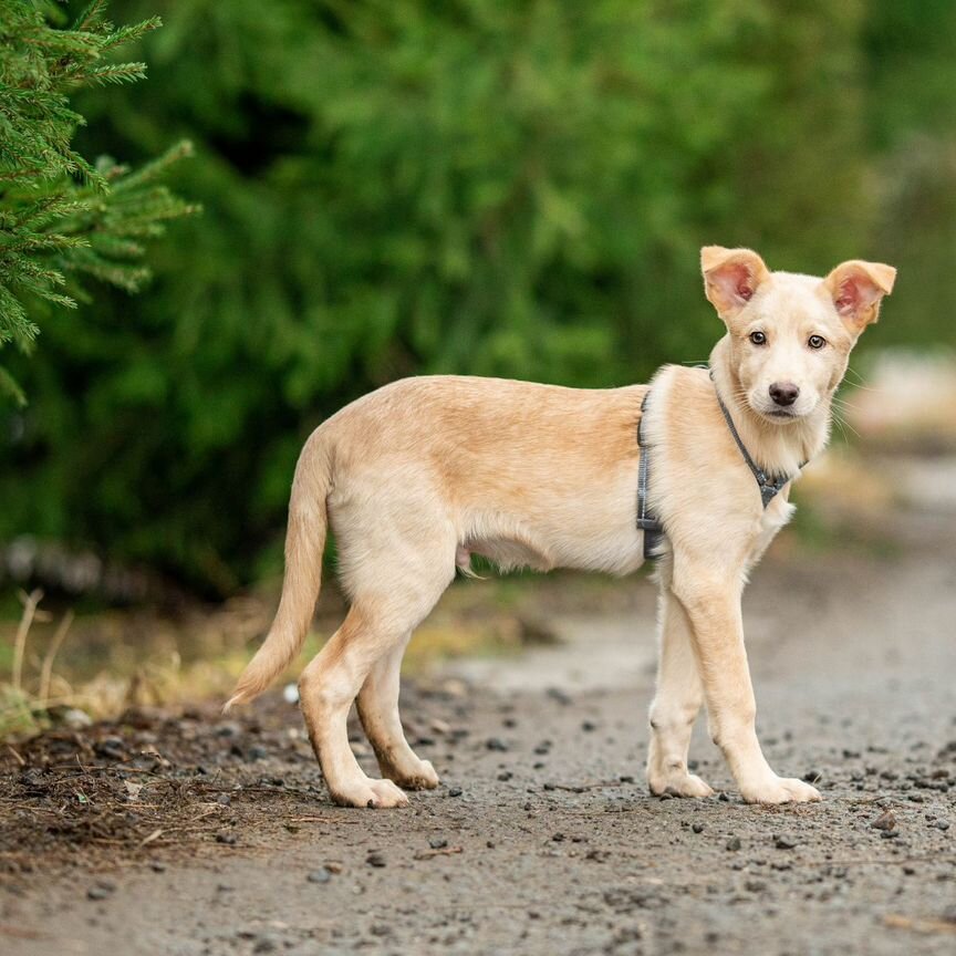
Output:
<svg viewBox="0 0 956 956">
<path fill-rule="evenodd" d="M 714 792 L 710 787 L 687 770 L 690 734 L 704 703 L 704 689 L 687 612 L 666 583 L 661 586 L 658 635 L 657 688 L 651 705 L 647 783 L 655 794 L 709 797 Z"/>
</svg>

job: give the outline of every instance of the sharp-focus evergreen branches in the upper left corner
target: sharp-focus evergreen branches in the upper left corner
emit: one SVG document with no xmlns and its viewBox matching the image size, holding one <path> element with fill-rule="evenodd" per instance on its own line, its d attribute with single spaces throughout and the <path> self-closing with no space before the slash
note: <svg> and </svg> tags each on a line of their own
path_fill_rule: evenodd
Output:
<svg viewBox="0 0 956 956">
<path fill-rule="evenodd" d="M 114 27 L 105 7 L 93 0 L 71 23 L 52 3 L 0 2 L 0 347 L 29 350 L 31 313 L 40 303 L 75 308 L 85 298 L 81 277 L 135 292 L 149 274 L 144 240 L 190 209 L 157 183 L 188 143 L 135 173 L 73 148 L 84 119 L 71 94 L 143 79 L 144 63 L 111 55 L 160 25 L 153 17 Z M 23 401 L 2 368 L 0 387 Z"/>
</svg>

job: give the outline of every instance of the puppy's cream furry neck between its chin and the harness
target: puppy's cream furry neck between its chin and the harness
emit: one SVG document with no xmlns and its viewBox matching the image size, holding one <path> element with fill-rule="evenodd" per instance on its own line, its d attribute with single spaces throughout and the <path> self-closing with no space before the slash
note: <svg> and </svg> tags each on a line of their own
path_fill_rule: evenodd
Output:
<svg viewBox="0 0 956 956">
<path fill-rule="evenodd" d="M 724 402 L 740 440 L 754 460 L 773 475 L 796 475 L 815 457 L 830 438 L 830 403 L 825 396 L 806 417 L 778 425 L 754 412 L 744 397 L 744 387 L 730 362 L 730 340 L 724 336 L 710 353 L 710 371 L 717 394 Z M 732 440 L 732 439 L 731 439 Z"/>
</svg>

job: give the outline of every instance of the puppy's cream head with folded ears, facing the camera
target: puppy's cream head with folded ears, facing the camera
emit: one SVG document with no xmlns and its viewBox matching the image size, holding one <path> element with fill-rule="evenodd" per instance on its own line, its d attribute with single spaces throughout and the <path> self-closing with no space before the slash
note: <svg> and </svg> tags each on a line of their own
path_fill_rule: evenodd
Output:
<svg viewBox="0 0 956 956">
<path fill-rule="evenodd" d="M 825 279 L 771 272 L 749 249 L 705 246 L 704 288 L 727 325 L 740 398 L 767 420 L 811 414 L 843 378 L 896 270 L 852 260 Z"/>
</svg>

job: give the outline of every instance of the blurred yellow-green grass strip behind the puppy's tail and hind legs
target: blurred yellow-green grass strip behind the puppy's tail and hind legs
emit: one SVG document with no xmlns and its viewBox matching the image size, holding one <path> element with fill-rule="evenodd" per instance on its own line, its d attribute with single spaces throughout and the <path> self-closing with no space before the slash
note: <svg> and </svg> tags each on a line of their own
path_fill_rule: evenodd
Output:
<svg viewBox="0 0 956 956">
<path fill-rule="evenodd" d="M 344 616 L 332 580 L 320 602 L 323 615 L 278 686 L 298 678 Z M 603 606 L 615 586 L 575 578 L 574 601 Z M 564 589 L 560 580 L 533 574 L 460 582 L 416 631 L 403 673 L 420 675 L 450 658 L 517 654 L 547 642 L 547 615 L 539 609 L 550 607 Z M 197 606 L 174 620 L 141 611 L 54 614 L 41 603 L 41 591 L 20 592 L 19 619 L 0 622 L 0 739 L 39 732 L 70 710 L 96 719 L 131 706 L 225 702 L 268 631 L 276 600 L 270 593 Z"/>
</svg>

